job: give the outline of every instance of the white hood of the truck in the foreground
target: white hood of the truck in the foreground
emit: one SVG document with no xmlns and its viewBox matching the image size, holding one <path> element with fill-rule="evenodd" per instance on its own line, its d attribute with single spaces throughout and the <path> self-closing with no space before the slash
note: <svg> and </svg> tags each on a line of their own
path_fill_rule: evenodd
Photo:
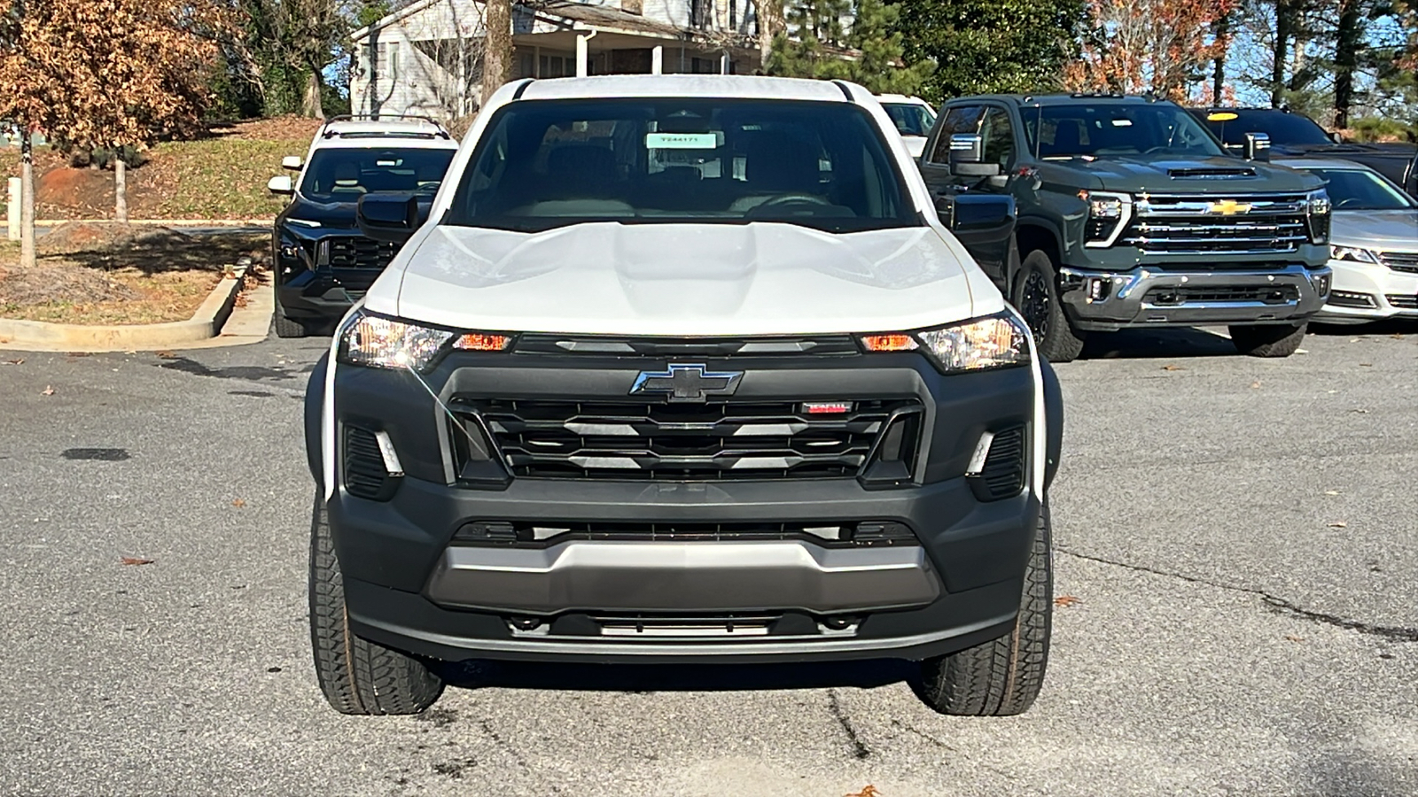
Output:
<svg viewBox="0 0 1418 797">
<path fill-rule="evenodd" d="M 493 332 L 746 336 L 888 332 L 1004 308 L 933 227 L 780 223 L 428 225 L 366 295 L 374 312 Z"/>
</svg>

